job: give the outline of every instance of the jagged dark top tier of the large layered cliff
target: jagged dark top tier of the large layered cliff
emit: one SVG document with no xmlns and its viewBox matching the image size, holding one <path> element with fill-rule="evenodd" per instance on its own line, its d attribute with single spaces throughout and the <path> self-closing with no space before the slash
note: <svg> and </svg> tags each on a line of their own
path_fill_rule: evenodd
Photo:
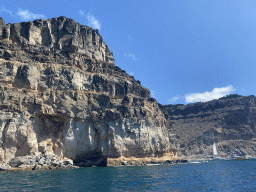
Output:
<svg viewBox="0 0 256 192">
<path fill-rule="evenodd" d="M 99 61 L 114 63 L 113 53 L 103 42 L 99 31 L 80 25 L 72 19 L 62 16 L 3 25 L 4 21 L 0 19 L 2 39 L 10 39 L 18 45 L 45 46 L 66 54 L 86 55 Z"/>
</svg>

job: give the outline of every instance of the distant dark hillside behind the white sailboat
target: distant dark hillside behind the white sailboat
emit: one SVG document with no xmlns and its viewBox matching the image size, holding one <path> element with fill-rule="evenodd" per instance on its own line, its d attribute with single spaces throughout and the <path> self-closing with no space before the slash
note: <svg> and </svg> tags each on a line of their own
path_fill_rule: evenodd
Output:
<svg viewBox="0 0 256 192">
<path fill-rule="evenodd" d="M 179 155 L 210 157 L 215 142 L 219 156 L 256 156 L 255 101 L 255 96 L 229 95 L 205 103 L 165 105 L 180 142 Z"/>
</svg>

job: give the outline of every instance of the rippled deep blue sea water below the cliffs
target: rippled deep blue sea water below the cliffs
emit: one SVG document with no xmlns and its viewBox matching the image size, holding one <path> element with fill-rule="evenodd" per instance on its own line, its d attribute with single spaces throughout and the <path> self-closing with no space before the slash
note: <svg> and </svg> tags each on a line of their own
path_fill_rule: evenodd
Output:
<svg viewBox="0 0 256 192">
<path fill-rule="evenodd" d="M 256 160 L 0 172 L 0 191 L 256 191 Z"/>
</svg>

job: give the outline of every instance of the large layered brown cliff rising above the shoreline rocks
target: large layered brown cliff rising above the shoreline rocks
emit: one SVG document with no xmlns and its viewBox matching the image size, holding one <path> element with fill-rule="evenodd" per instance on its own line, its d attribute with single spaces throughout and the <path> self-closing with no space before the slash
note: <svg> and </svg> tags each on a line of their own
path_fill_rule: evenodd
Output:
<svg viewBox="0 0 256 192">
<path fill-rule="evenodd" d="M 0 18 L 0 40 L 0 161 L 175 155 L 163 109 L 115 66 L 97 30 L 65 17 Z"/>
</svg>

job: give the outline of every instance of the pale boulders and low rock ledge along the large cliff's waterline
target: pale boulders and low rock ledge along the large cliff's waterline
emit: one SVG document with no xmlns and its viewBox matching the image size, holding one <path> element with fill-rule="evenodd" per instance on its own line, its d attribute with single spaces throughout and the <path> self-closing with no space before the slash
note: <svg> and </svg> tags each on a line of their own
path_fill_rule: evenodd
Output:
<svg viewBox="0 0 256 192">
<path fill-rule="evenodd" d="M 152 166 L 163 164 L 187 163 L 187 160 L 168 155 L 162 157 L 119 157 L 108 158 L 106 167 L 114 166 Z M 0 164 L 0 171 L 31 171 L 31 170 L 52 170 L 52 169 L 67 169 L 67 168 L 82 168 L 82 167 L 104 167 L 85 164 L 74 164 L 73 160 L 66 157 L 60 158 L 54 154 L 38 153 L 22 157 L 15 157 L 9 162 Z"/>
</svg>

